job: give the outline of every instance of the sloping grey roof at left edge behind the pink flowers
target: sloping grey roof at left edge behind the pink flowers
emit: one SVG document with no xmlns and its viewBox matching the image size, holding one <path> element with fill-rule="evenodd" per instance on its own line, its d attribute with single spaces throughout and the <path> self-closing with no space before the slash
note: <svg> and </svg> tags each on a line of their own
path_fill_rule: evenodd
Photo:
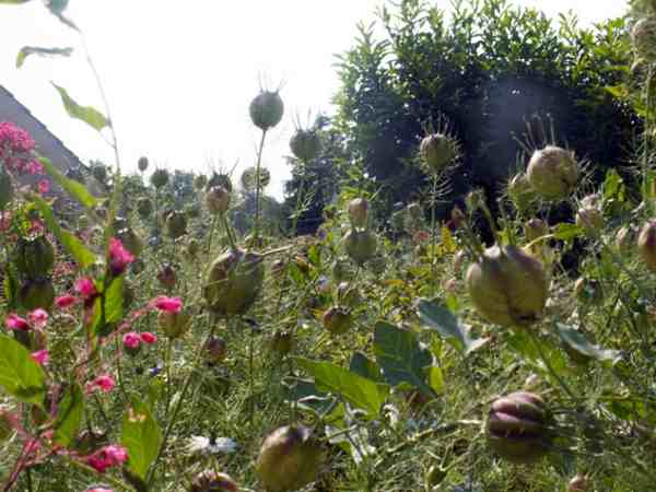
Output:
<svg viewBox="0 0 656 492">
<path fill-rule="evenodd" d="M 2 85 L 0 121 L 10 121 L 26 130 L 36 142 L 37 152 L 50 160 L 61 172 L 83 166 L 80 159 Z"/>
</svg>

